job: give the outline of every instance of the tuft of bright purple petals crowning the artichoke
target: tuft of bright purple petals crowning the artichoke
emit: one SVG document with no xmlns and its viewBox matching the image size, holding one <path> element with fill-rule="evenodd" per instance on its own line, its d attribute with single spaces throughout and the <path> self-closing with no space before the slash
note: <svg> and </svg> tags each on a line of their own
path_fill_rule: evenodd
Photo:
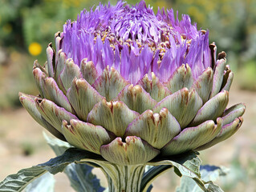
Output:
<svg viewBox="0 0 256 192">
<path fill-rule="evenodd" d="M 62 35 L 63 52 L 75 64 L 87 58 L 99 74 L 113 66 L 131 83 L 151 72 L 166 82 L 182 64 L 197 78 L 211 66 L 209 31 L 197 30 L 188 15 L 179 21 L 173 10 L 154 14 L 144 1 L 83 10 L 76 21 L 67 21 Z"/>
</svg>

